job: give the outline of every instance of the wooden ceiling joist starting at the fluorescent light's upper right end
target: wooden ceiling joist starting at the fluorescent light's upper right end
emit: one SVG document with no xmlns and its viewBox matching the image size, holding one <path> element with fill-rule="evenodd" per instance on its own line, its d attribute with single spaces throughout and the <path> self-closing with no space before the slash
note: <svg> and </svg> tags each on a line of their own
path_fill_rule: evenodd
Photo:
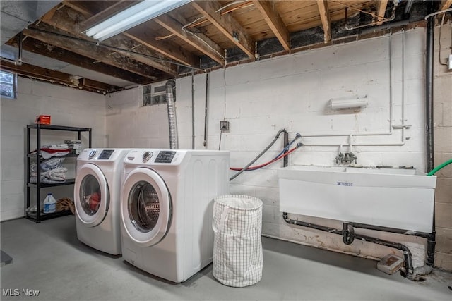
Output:
<svg viewBox="0 0 452 301">
<path fill-rule="evenodd" d="M 191 5 L 217 27 L 225 37 L 230 39 L 239 49 L 242 49 L 247 56 L 255 59 L 255 47 L 251 37 L 232 16 L 215 12 L 221 8 L 217 1 L 193 1 Z"/>
</svg>

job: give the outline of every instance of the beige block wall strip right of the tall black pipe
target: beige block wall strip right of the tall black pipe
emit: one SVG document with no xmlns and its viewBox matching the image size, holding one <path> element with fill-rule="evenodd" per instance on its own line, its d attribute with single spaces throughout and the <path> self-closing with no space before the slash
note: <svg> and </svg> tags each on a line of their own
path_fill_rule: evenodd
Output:
<svg viewBox="0 0 452 301">
<path fill-rule="evenodd" d="M 448 56 L 451 54 L 451 34 L 451 23 L 436 27 L 434 46 L 435 166 L 452 159 L 452 70 L 448 70 L 448 66 L 442 65 L 448 63 Z M 452 164 L 441 169 L 436 176 L 438 178 L 435 193 L 435 265 L 452 271 Z"/>
</svg>

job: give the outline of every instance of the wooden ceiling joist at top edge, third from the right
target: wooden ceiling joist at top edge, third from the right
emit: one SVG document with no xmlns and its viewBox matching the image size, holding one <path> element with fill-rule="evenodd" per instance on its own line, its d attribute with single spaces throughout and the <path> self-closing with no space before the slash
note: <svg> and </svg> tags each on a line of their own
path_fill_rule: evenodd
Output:
<svg viewBox="0 0 452 301">
<path fill-rule="evenodd" d="M 285 51 L 290 51 L 290 33 L 285 27 L 283 19 L 278 11 L 275 9 L 274 1 L 253 0 L 254 6 L 258 8 L 264 20 L 270 29 L 278 38 L 278 41 L 283 45 Z"/>
</svg>

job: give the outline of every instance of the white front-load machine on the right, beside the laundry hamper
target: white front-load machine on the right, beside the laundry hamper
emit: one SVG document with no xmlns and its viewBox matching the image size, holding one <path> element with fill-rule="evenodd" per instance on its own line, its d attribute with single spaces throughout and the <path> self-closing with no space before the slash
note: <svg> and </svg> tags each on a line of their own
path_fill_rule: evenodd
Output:
<svg viewBox="0 0 452 301">
<path fill-rule="evenodd" d="M 213 198 L 228 193 L 230 153 L 133 149 L 124 158 L 122 256 L 180 283 L 212 262 Z"/>
</svg>

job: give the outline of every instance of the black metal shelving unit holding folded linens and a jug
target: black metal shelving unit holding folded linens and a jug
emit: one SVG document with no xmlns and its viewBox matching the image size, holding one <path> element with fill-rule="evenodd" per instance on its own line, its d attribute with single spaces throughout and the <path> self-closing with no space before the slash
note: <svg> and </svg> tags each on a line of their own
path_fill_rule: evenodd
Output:
<svg viewBox="0 0 452 301">
<path fill-rule="evenodd" d="M 31 130 L 36 130 L 36 154 L 32 154 L 32 150 L 30 149 L 32 143 L 30 142 L 30 134 Z M 26 181 L 26 188 L 27 188 L 27 200 L 26 200 L 26 206 L 25 206 L 25 217 L 27 219 L 32 219 L 36 223 L 40 223 L 41 221 L 44 221 L 45 219 L 54 219 L 59 216 L 65 216 L 71 214 L 71 211 L 59 211 L 54 212 L 50 214 L 44 214 L 41 212 L 41 188 L 49 188 L 49 187 L 56 187 L 56 186 L 64 186 L 64 185 L 73 185 L 75 183 L 75 179 L 66 179 L 64 183 L 56 183 L 56 184 L 46 184 L 41 183 L 41 171 L 40 171 L 40 164 L 43 161 L 41 156 L 41 131 L 42 130 L 60 130 L 60 131 L 66 131 L 66 132 L 75 132 L 77 133 L 77 139 L 81 140 L 81 133 L 87 132 L 88 137 L 88 147 L 91 147 L 91 128 L 76 128 L 71 126 L 61 126 L 61 125 L 45 125 L 45 124 L 32 124 L 27 125 L 27 148 L 25 149 L 25 152 L 27 153 L 27 177 L 25 178 Z M 76 154 L 67 154 L 64 157 L 77 157 Z M 35 158 L 37 162 L 37 180 L 36 183 L 30 183 L 30 164 L 31 159 Z M 32 189 L 36 190 L 36 212 L 28 212 L 26 209 L 30 207 L 30 192 Z"/>
</svg>

